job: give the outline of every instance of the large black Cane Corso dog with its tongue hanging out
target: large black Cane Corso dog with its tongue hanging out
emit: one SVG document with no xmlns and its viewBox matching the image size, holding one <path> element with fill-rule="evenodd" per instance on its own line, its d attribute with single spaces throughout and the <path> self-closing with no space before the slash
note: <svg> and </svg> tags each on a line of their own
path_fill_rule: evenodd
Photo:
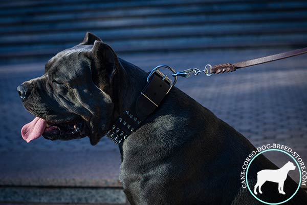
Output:
<svg viewBox="0 0 307 205">
<path fill-rule="evenodd" d="M 117 57 L 91 33 L 46 64 L 45 74 L 17 90 L 35 119 L 21 130 L 29 142 L 89 136 L 96 145 L 125 110 L 134 108 L 148 73 Z M 243 135 L 176 87 L 141 127 L 119 144 L 120 180 L 131 204 L 262 204 L 242 188 L 243 162 L 255 151 Z M 257 172 L 278 169 L 260 155 L 249 170 L 253 190 Z M 297 168 L 299 169 L 299 168 Z M 261 200 L 289 198 L 273 182 Z M 290 177 L 284 192 L 298 185 Z M 261 195 L 261 196 L 260 196 Z M 289 204 L 307 204 L 299 188 Z"/>
</svg>

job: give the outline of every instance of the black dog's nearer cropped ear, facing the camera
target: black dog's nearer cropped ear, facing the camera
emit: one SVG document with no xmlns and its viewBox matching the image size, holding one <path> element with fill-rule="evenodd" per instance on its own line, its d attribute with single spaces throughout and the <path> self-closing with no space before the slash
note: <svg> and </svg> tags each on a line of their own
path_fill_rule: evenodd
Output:
<svg viewBox="0 0 307 205">
<path fill-rule="evenodd" d="M 109 45 L 96 40 L 91 53 L 96 62 L 96 75 L 106 76 L 108 84 L 111 85 L 114 75 L 119 69 L 119 61 L 115 51 Z"/>
</svg>

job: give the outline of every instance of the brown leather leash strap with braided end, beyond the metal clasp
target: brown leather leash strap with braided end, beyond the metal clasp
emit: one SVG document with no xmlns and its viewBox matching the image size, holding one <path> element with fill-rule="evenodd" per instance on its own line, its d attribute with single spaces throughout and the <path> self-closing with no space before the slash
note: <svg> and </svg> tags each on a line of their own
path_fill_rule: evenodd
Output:
<svg viewBox="0 0 307 205">
<path fill-rule="evenodd" d="M 269 55 L 266 57 L 260 57 L 260 58 L 256 58 L 256 59 L 252 59 L 252 60 L 246 60 L 246 61 L 242 61 L 242 62 L 238 62 L 238 63 L 234 63 L 234 64 L 222 64 L 222 65 L 217 65 L 217 66 L 213 66 L 212 68 L 209 68 L 209 73 L 211 74 L 218 74 L 218 73 L 228 73 L 228 72 L 233 72 L 236 69 L 240 69 L 240 68 L 246 68 L 249 66 L 255 66 L 255 65 L 259 65 L 259 64 L 265 64 L 265 63 L 269 63 L 271 61 L 275 61 L 275 60 L 280 60 L 283 58 L 288 58 L 288 57 L 293 57 L 296 55 L 301 55 L 307 53 L 307 47 L 306 48 L 302 48 L 302 49 L 297 49 L 297 50 L 293 50 L 293 51 L 288 51 L 288 52 L 284 52 L 284 53 L 279 53 L 279 54 L 275 54 L 275 55 Z"/>
</svg>

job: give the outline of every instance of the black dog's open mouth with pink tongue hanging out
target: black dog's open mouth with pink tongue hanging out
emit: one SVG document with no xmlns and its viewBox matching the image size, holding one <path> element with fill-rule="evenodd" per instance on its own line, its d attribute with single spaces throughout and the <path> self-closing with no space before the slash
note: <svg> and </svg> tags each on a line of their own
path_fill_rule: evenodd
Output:
<svg viewBox="0 0 307 205">
<path fill-rule="evenodd" d="M 31 122 L 21 128 L 21 136 L 27 142 L 39 138 L 69 140 L 82 138 L 87 135 L 87 127 L 84 119 L 73 119 L 63 122 L 49 122 L 35 117 Z"/>
</svg>

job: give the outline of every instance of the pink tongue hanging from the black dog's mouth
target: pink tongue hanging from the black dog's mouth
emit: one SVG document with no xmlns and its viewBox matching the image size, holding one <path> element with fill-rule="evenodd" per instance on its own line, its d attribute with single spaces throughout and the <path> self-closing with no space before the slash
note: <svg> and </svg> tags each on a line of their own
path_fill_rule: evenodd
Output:
<svg viewBox="0 0 307 205">
<path fill-rule="evenodd" d="M 31 122 L 21 128 L 21 136 L 29 143 L 31 140 L 37 139 L 42 135 L 43 131 L 45 131 L 46 124 L 47 121 L 45 119 L 35 117 Z"/>
</svg>

